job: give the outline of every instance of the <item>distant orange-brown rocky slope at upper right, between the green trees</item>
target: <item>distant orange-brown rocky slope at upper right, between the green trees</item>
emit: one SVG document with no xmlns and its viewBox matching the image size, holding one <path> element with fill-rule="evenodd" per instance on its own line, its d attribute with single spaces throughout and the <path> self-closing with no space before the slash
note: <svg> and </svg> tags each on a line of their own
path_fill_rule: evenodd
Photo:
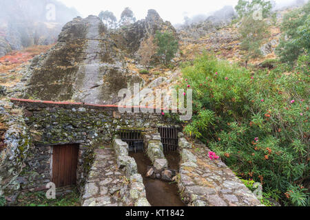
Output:
<svg viewBox="0 0 310 220">
<path fill-rule="evenodd" d="M 226 7 L 225 7 L 226 8 Z M 224 8 L 224 9 L 225 9 Z M 225 11 L 225 10 L 220 11 Z M 276 23 L 269 19 L 271 24 L 269 39 L 260 47 L 262 56 L 252 59 L 249 63 L 260 65 L 263 61 L 276 58 L 274 51 L 278 46 L 281 36 L 280 23 L 283 14 L 289 12 L 293 8 L 284 8 L 276 11 Z M 243 62 L 242 55 L 244 52 L 240 48 L 241 36 L 238 34 L 240 23 L 231 23 L 235 18 L 234 9 L 226 8 L 226 14 L 223 17 L 211 16 L 205 21 L 192 23 L 191 25 L 183 25 L 178 28 L 178 34 L 181 38 L 181 50 L 183 52 L 183 60 L 193 60 L 197 54 L 204 51 L 214 53 L 218 58 L 227 59 L 228 61 Z"/>
</svg>

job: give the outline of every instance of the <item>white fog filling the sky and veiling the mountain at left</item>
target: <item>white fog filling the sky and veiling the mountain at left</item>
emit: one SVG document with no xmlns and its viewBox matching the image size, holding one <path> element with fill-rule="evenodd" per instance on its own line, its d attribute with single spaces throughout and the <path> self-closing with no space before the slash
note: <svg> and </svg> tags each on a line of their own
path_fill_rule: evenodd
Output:
<svg viewBox="0 0 310 220">
<path fill-rule="evenodd" d="M 273 0 L 274 10 L 300 5 L 303 0 Z M 175 27 L 209 19 L 211 22 L 234 17 L 238 0 L 0 0 L 0 56 L 30 45 L 49 45 L 56 41 L 63 25 L 76 16 L 99 15 L 103 10 L 119 20 L 129 6 L 137 20 L 154 9 Z"/>
</svg>

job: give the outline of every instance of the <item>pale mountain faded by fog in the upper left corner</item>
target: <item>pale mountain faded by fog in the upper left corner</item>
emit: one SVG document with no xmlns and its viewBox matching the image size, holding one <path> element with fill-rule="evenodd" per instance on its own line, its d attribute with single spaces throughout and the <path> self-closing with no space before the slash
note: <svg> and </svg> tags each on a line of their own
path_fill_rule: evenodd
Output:
<svg viewBox="0 0 310 220">
<path fill-rule="evenodd" d="M 0 1 L 0 56 L 31 45 L 50 45 L 65 23 L 78 16 L 56 0 Z"/>
</svg>

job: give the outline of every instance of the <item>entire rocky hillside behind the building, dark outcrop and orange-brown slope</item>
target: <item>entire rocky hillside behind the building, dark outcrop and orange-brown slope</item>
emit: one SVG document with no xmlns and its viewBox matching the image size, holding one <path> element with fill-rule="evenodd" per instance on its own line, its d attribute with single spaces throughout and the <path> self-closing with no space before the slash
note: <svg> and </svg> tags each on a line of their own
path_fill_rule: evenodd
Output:
<svg viewBox="0 0 310 220">
<path fill-rule="evenodd" d="M 260 65 L 269 58 L 276 58 L 274 50 L 281 34 L 280 22 L 287 11 L 278 11 L 276 24 L 271 25 L 271 35 L 261 46 L 264 56 L 249 63 Z M 107 30 L 98 17 L 77 17 L 63 27 L 56 45 L 49 52 L 36 56 L 31 65 L 19 72 L 23 74 L 21 83 L 8 88 L 8 95 L 116 104 L 120 100 L 118 91 L 132 88 L 134 83 L 153 91 L 167 89 L 169 94 L 181 80 L 179 63 L 192 61 L 205 51 L 220 59 L 244 63 L 238 34 L 240 24 L 231 24 L 234 11 L 228 7 L 220 12 L 225 12 L 220 13 L 222 17 L 211 16 L 177 30 L 168 21 L 163 21 L 155 10 L 149 10 L 145 19 L 116 30 Z M 154 36 L 156 30 L 173 32 L 179 39 L 180 52 L 169 68 L 153 65 L 145 74 L 141 72 L 145 69 L 141 65 L 141 43 Z"/>
</svg>

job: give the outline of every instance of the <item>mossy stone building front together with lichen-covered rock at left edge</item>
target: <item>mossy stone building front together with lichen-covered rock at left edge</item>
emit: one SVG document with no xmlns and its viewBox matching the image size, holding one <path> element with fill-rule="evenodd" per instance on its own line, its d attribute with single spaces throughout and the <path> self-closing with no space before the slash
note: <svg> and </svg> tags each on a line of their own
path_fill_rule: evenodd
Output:
<svg viewBox="0 0 310 220">
<path fill-rule="evenodd" d="M 79 144 L 76 184 L 80 192 L 83 192 L 88 173 L 96 159 L 96 150 L 103 146 L 111 146 L 119 129 L 143 128 L 144 134 L 151 134 L 157 132 L 158 126 L 172 123 L 160 113 L 120 114 L 117 107 L 112 105 L 18 99 L 12 99 L 12 102 L 17 108 L 23 107 L 23 111 L 19 111 L 24 114 L 19 116 L 19 120 L 12 120 L 6 132 L 5 142 L 8 143 L 8 148 L 1 153 L 14 151 L 15 159 L 6 156 L 6 159 L 1 161 L 4 165 L 1 166 L 0 173 L 8 173 L 8 176 L 1 175 L 0 180 L 3 184 L 0 192 L 8 192 L 7 197 L 16 192 L 13 200 L 16 199 L 19 190 L 34 192 L 45 189 L 46 184 L 52 179 L 51 158 L 55 145 Z M 4 107 L 2 111 L 3 114 L 6 112 Z M 8 118 L 12 118 L 10 113 L 6 114 Z M 16 134 L 10 135 L 11 131 Z M 10 166 L 5 166 L 6 164 Z M 8 172 L 7 169 L 12 172 Z"/>
</svg>

